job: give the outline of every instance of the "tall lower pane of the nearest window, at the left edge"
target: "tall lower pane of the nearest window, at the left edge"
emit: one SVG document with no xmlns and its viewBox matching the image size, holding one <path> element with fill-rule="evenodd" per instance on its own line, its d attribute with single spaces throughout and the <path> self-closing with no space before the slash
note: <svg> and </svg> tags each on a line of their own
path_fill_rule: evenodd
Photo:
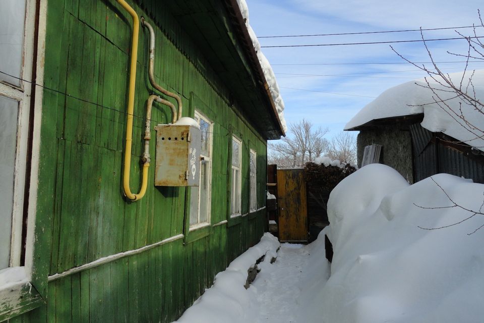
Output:
<svg viewBox="0 0 484 323">
<path fill-rule="evenodd" d="M 19 102 L 0 96 L 0 270 L 9 266 Z"/>
</svg>

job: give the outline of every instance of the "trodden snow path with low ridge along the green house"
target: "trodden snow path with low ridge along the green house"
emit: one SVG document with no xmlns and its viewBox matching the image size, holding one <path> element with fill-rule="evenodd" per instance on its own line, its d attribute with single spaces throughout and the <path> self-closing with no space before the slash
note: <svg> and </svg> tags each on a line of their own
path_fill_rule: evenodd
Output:
<svg viewBox="0 0 484 323">
<path fill-rule="evenodd" d="M 277 248 L 277 259 L 271 263 Z M 264 261 L 258 264 L 259 274 L 249 289 L 245 289 L 243 285 L 251 261 L 255 263 L 266 251 Z M 217 275 L 212 288 L 206 290 L 177 322 L 307 322 L 302 317 L 307 312 L 307 304 L 312 303 L 311 290 L 317 292 L 329 277 L 330 263 L 324 252 L 324 239 L 306 246 L 279 244 L 275 237 L 266 233 L 261 243 L 240 256 L 245 258 L 245 264 L 241 265 L 240 257 L 235 259 L 225 272 Z"/>
</svg>

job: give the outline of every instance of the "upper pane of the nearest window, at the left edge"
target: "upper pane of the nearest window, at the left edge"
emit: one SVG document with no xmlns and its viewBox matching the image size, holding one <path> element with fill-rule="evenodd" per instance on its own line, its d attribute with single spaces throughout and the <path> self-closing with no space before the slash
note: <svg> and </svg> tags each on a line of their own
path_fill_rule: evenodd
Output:
<svg viewBox="0 0 484 323">
<path fill-rule="evenodd" d="M 0 1 L 0 71 L 20 77 L 24 41 L 25 0 Z M 20 85 L 17 78 L 0 73 L 0 80 Z"/>
</svg>

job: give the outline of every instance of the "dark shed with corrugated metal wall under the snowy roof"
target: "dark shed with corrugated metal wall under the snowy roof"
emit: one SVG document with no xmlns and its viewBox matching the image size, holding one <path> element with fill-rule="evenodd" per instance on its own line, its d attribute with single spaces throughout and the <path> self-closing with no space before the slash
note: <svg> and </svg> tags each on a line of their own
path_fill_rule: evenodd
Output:
<svg viewBox="0 0 484 323">
<path fill-rule="evenodd" d="M 358 166 L 365 146 L 382 145 L 380 163 L 397 170 L 409 183 L 448 173 L 484 183 L 484 156 L 478 149 L 420 125 L 423 114 L 373 120 L 358 130 Z"/>
</svg>

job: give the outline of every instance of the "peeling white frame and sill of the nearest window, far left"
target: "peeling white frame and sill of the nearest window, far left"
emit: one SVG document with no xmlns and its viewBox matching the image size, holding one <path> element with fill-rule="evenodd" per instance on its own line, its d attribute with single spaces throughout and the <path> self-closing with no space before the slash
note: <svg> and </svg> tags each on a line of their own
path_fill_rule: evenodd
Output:
<svg viewBox="0 0 484 323">
<path fill-rule="evenodd" d="M 47 18 L 47 1 L 40 0 L 39 6 L 36 0 L 26 0 L 25 6 L 25 28 L 23 40 L 23 59 L 19 86 L 13 86 L 6 81 L 0 80 L 0 93 L 3 96 L 19 101 L 19 114 L 17 125 L 17 146 L 14 171 L 14 202 L 12 214 L 12 247 L 10 255 L 10 266 L 0 271 L 0 281 L 6 283 L 0 285 L 0 297 L 3 301 L 9 302 L 10 309 L 0 312 L 5 318 L 11 318 L 33 308 L 40 306 L 42 295 L 33 288 L 31 281 L 37 282 L 44 278 L 41 274 L 33 271 L 33 253 L 35 243 L 35 218 L 37 209 L 37 192 L 38 192 L 38 172 L 40 156 L 40 126 L 42 115 L 42 100 L 44 78 L 43 63 L 36 65 L 36 84 L 39 85 L 35 91 L 35 101 L 33 102 L 33 111 L 31 110 L 31 95 L 33 86 L 31 80 L 33 71 L 34 49 L 37 49 L 37 62 L 44 62 L 45 57 L 45 31 Z M 36 8 L 39 9 L 38 25 L 36 23 Z M 37 44 L 35 44 L 35 35 L 38 35 Z M 30 115 L 33 113 L 33 116 Z M 31 122 L 29 127 L 29 122 Z M 31 131 L 32 150 L 27 151 L 29 140 L 29 131 Z M 27 155 L 30 154 L 30 169 L 26 169 Z M 26 183 L 26 172 L 30 172 L 30 182 Z M 29 185 L 29 195 L 24 193 L 25 185 Z M 24 200 L 28 199 L 28 210 L 24 210 Z M 27 212 L 27 223 L 23 224 L 24 212 Z M 26 232 L 25 241 L 22 241 L 22 230 Z M 22 243 L 25 243 L 24 265 L 21 263 Z M 12 280 L 12 277 L 15 277 Z M 35 276 L 35 277 L 33 277 Z M 45 276 L 45 282 L 47 277 Z M 30 303 L 26 303 L 30 301 Z"/>
</svg>

